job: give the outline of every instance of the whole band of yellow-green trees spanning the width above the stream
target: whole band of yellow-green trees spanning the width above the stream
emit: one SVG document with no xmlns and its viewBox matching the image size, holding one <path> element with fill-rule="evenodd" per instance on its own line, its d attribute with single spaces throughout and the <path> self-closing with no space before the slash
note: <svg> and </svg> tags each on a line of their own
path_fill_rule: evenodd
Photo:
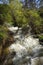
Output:
<svg viewBox="0 0 43 65">
<path fill-rule="evenodd" d="M 15 23 L 19 27 L 30 25 L 35 34 L 43 33 L 43 18 L 40 16 L 43 9 L 23 8 L 19 0 L 10 0 L 9 5 L 0 5 L 0 24 Z M 16 26 L 16 25 L 15 25 Z"/>
</svg>

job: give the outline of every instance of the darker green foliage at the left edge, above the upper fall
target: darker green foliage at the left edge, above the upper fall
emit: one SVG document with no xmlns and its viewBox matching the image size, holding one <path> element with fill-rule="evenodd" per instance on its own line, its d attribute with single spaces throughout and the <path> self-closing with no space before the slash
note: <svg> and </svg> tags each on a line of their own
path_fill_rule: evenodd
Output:
<svg viewBox="0 0 43 65">
<path fill-rule="evenodd" d="M 1 22 L 8 22 L 11 23 L 12 21 L 12 16 L 11 16 L 11 11 L 10 7 L 7 4 L 0 4 L 0 23 Z"/>
</svg>

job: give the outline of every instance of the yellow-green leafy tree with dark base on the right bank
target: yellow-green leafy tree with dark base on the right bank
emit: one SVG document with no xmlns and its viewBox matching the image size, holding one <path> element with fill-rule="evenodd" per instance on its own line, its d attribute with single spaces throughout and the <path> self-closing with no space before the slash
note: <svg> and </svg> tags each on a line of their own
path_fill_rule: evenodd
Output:
<svg viewBox="0 0 43 65">
<path fill-rule="evenodd" d="M 43 32 L 43 22 L 42 22 L 43 20 L 41 19 L 38 11 L 29 10 L 28 17 L 29 17 L 29 25 L 32 28 L 32 32 L 35 34 Z"/>
</svg>

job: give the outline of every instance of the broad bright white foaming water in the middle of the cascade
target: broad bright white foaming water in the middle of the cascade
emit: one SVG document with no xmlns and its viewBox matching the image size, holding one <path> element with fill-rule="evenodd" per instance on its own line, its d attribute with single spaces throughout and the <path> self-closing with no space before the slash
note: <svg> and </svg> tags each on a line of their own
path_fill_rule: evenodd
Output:
<svg viewBox="0 0 43 65">
<path fill-rule="evenodd" d="M 17 40 L 9 47 L 9 51 L 16 51 L 16 53 L 19 53 L 19 55 L 21 55 L 29 51 L 31 52 L 32 49 L 36 47 L 38 44 L 38 39 L 34 39 L 33 37 L 29 36 L 27 38 L 24 38 L 23 40 Z"/>
</svg>

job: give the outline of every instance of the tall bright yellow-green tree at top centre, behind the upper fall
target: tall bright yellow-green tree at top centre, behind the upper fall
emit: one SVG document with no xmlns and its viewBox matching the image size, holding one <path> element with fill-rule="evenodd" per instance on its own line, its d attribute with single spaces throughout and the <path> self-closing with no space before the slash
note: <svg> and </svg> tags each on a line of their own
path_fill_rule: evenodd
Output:
<svg viewBox="0 0 43 65">
<path fill-rule="evenodd" d="M 15 2 L 15 3 L 14 3 Z M 12 6 L 11 6 L 12 5 Z M 18 0 L 14 0 L 10 3 L 10 8 L 13 16 L 16 19 L 16 23 L 18 26 L 24 26 L 27 23 L 27 19 L 24 16 L 22 4 Z M 15 22 L 15 21 L 14 21 Z"/>
</svg>

